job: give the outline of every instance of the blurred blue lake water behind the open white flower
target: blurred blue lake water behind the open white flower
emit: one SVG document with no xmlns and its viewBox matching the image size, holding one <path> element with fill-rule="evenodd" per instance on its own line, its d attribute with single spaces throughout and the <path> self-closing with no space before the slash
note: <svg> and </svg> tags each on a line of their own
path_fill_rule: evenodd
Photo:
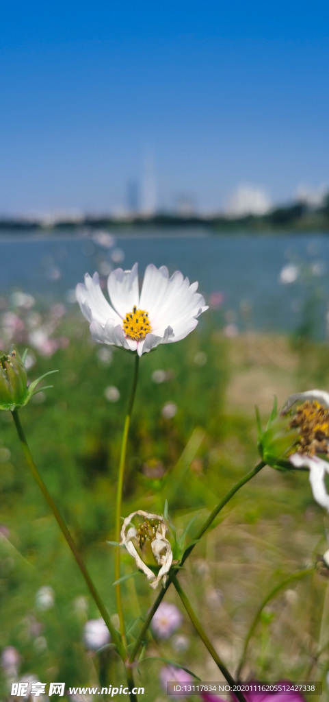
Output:
<svg viewBox="0 0 329 702">
<path fill-rule="evenodd" d="M 103 238 L 102 238 L 103 237 Z M 69 231 L 41 235 L 2 231 L 0 237 L 0 293 L 13 289 L 32 293 L 45 302 L 71 299 L 68 291 L 83 281 L 85 272 L 110 267 L 129 269 L 139 262 L 179 269 L 199 281 L 209 300 L 223 293 L 228 324 L 264 331 L 293 331 L 307 312 L 316 335 L 326 334 L 329 305 L 329 237 L 326 234 L 221 234 L 207 230 L 140 229 L 116 235 L 111 242 L 102 232 L 89 236 Z M 306 310 L 306 312 L 305 312 Z"/>
</svg>

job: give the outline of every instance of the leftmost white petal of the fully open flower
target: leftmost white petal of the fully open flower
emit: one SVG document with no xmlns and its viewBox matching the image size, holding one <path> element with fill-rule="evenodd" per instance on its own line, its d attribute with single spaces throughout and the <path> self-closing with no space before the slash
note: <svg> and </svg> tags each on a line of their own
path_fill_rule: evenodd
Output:
<svg viewBox="0 0 329 702">
<path fill-rule="evenodd" d="M 92 278 L 88 273 L 85 274 L 85 284 L 79 283 L 76 286 L 76 299 L 88 322 L 97 319 L 97 322 L 105 324 L 109 318 L 114 319 L 116 324 L 120 322 L 120 317 L 104 298 L 98 273 L 94 273 Z"/>
</svg>

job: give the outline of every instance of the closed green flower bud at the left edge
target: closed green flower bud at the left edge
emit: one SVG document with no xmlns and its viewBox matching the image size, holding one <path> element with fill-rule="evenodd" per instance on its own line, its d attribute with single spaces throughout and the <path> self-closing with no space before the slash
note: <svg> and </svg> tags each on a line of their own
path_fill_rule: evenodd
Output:
<svg viewBox="0 0 329 702">
<path fill-rule="evenodd" d="M 27 404 L 32 395 L 45 390 L 45 388 L 35 390 L 40 380 L 50 373 L 56 373 L 56 371 L 44 373 L 38 380 L 34 380 L 27 386 L 26 353 L 21 358 L 15 346 L 10 348 L 9 354 L 0 352 L 0 409 L 13 412 Z M 47 387 L 52 388 L 52 385 Z"/>
</svg>

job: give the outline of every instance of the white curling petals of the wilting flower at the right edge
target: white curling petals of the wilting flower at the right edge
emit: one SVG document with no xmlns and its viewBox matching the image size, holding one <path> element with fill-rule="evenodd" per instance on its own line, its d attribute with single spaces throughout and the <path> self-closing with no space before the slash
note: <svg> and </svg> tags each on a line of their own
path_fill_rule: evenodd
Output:
<svg viewBox="0 0 329 702">
<path fill-rule="evenodd" d="M 324 390 L 308 390 L 307 392 L 295 392 L 288 397 L 286 404 L 281 410 L 281 414 L 286 414 L 295 402 L 318 402 L 326 409 L 329 409 L 329 392 Z M 303 453 L 293 453 L 289 456 L 290 463 L 295 468 L 309 468 L 309 482 L 313 492 L 314 500 L 329 512 L 329 495 L 325 487 L 325 475 L 329 474 L 329 463 L 319 456 L 307 456 Z"/>
</svg>

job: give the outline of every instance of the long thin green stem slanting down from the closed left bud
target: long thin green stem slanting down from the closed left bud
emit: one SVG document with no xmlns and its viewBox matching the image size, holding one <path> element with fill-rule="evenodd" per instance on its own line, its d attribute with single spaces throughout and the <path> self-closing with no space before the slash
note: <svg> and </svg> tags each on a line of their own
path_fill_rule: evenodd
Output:
<svg viewBox="0 0 329 702">
<path fill-rule="evenodd" d="M 80 569 L 81 574 L 83 575 L 83 578 L 85 578 L 85 583 L 87 584 L 87 588 L 90 590 L 90 594 L 92 595 L 92 598 L 97 604 L 97 607 L 99 609 L 100 614 L 102 614 L 102 617 L 104 619 L 104 622 L 106 623 L 107 628 L 109 629 L 109 632 L 111 634 L 111 639 L 114 644 L 116 644 L 116 648 L 118 650 L 118 654 L 121 656 L 123 661 L 125 661 L 125 649 L 123 647 L 123 644 L 120 640 L 120 637 L 118 636 L 118 633 L 116 631 L 116 628 L 113 626 L 111 622 L 111 618 L 109 616 L 109 612 L 107 611 L 104 602 L 102 601 L 102 598 L 99 595 L 99 592 L 97 591 L 94 583 L 92 582 L 92 578 L 90 578 L 90 574 L 87 571 L 87 568 L 85 567 L 85 564 L 83 562 L 83 559 L 80 557 L 80 554 L 78 552 L 78 549 L 76 548 L 76 544 L 73 541 L 73 537 L 71 536 L 71 533 L 69 532 L 69 529 L 66 527 L 66 524 L 64 522 L 64 519 L 62 518 L 62 515 L 60 514 L 57 505 L 53 501 L 51 495 L 48 492 L 48 489 L 45 486 L 45 483 L 43 482 L 43 479 L 41 478 L 41 475 L 38 472 L 38 469 L 36 468 L 36 464 L 34 463 L 34 460 L 31 456 L 31 451 L 29 450 L 29 445 L 27 444 L 27 439 L 25 437 L 25 433 L 23 431 L 22 425 L 20 423 L 20 418 L 18 416 L 18 411 L 15 409 L 12 412 L 13 415 L 13 420 L 15 422 L 15 427 L 18 432 L 18 437 L 20 439 L 20 443 L 22 445 L 22 449 L 25 454 L 25 458 L 27 461 L 27 464 L 29 465 L 29 469 L 31 470 L 31 474 L 33 475 L 34 479 L 38 483 L 39 488 L 41 489 L 41 492 L 47 501 L 50 510 L 52 511 L 52 514 L 54 515 L 56 522 L 59 526 L 59 529 L 61 529 L 62 534 L 64 538 L 66 539 L 67 544 L 69 545 L 69 548 L 71 549 L 71 552 L 73 553 L 74 558 L 76 559 L 76 564 L 78 565 L 78 568 Z"/>
</svg>

